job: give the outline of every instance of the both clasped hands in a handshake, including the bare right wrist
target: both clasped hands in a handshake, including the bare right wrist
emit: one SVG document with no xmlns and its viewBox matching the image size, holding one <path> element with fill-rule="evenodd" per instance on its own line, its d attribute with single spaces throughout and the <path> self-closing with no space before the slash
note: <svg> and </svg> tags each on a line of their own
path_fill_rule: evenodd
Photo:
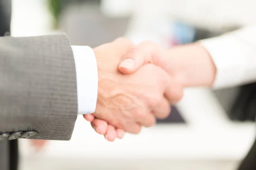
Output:
<svg viewBox="0 0 256 170">
<path fill-rule="evenodd" d="M 111 142 L 169 116 L 184 87 L 211 85 L 215 78 L 215 65 L 198 43 L 167 50 L 119 38 L 93 50 L 98 98 L 96 111 L 84 118 Z"/>
</svg>

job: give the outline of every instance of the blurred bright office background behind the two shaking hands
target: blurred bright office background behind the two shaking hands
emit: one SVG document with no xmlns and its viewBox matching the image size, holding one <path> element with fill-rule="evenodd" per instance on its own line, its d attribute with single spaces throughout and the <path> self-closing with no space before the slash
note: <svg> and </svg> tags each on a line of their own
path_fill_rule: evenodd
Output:
<svg viewBox="0 0 256 170">
<path fill-rule="evenodd" d="M 91 47 L 126 36 L 172 48 L 255 24 L 255 6 L 255 0 L 12 0 L 10 32 L 65 32 L 72 45 Z M 248 94 L 255 87 L 186 89 L 169 118 L 113 143 L 79 116 L 71 141 L 49 141 L 38 151 L 20 139 L 20 170 L 236 170 L 256 136 L 249 105 L 255 96 Z"/>
</svg>

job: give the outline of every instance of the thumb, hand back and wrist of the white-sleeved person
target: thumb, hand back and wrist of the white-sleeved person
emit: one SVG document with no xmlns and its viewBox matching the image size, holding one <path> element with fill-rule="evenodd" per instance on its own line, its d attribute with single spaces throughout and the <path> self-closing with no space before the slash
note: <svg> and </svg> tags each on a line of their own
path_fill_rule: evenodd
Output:
<svg viewBox="0 0 256 170">
<path fill-rule="evenodd" d="M 128 50 L 119 70 L 132 74 L 147 63 L 163 68 L 182 87 L 211 86 L 215 80 L 216 66 L 199 43 L 165 50 L 154 42 L 142 42 Z"/>
</svg>

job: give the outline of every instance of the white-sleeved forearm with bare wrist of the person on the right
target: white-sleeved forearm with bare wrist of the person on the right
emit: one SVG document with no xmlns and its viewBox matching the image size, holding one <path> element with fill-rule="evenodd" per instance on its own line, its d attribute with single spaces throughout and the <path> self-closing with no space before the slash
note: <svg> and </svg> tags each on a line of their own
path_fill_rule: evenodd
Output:
<svg viewBox="0 0 256 170">
<path fill-rule="evenodd" d="M 172 48 L 160 65 L 184 87 L 225 88 L 255 82 L 255 30 L 244 28 Z"/>
</svg>

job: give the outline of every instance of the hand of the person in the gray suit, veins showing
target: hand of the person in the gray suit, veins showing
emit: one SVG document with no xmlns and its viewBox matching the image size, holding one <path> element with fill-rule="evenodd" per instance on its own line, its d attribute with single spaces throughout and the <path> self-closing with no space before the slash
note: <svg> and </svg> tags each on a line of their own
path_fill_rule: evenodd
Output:
<svg viewBox="0 0 256 170">
<path fill-rule="evenodd" d="M 117 67 L 121 57 L 132 47 L 128 40 L 119 39 L 94 49 L 99 69 L 99 94 L 93 115 L 110 125 L 138 133 L 141 125 L 154 125 L 155 116 L 168 116 L 168 99 L 180 97 L 182 91 L 178 93 L 170 88 L 175 85 L 172 78 L 151 64 L 132 75 L 120 74 Z"/>
</svg>

